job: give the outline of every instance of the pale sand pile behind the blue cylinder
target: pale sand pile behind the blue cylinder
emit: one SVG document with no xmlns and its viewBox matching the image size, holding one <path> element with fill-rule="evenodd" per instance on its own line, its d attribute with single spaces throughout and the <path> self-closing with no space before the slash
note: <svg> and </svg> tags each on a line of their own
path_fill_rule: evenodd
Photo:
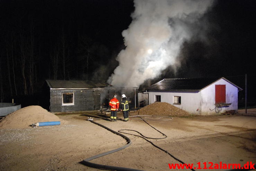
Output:
<svg viewBox="0 0 256 171">
<path fill-rule="evenodd" d="M 12 112 L 3 118 L 0 121 L 0 129 L 28 128 L 33 123 L 52 121 L 61 121 L 61 124 L 65 122 L 40 106 L 28 106 Z"/>
</svg>

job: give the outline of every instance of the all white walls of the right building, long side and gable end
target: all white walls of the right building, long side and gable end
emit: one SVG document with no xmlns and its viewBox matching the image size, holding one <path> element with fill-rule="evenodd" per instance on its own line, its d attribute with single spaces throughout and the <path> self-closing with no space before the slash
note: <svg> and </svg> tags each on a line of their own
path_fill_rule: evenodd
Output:
<svg viewBox="0 0 256 171">
<path fill-rule="evenodd" d="M 156 101 L 156 95 L 161 95 L 161 102 L 167 102 L 175 107 L 183 109 L 192 114 L 211 115 L 215 112 L 215 85 L 226 85 L 226 103 L 232 103 L 228 107 L 223 107 L 220 112 L 238 110 L 238 88 L 224 79 L 220 79 L 201 91 L 150 91 L 149 104 Z M 181 104 L 174 104 L 173 97 L 180 96 Z"/>
</svg>

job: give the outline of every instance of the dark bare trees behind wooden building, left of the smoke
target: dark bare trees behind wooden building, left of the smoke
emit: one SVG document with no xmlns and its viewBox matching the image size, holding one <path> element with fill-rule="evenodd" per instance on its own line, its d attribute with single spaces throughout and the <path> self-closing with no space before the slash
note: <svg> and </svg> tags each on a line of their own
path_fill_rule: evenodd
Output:
<svg viewBox="0 0 256 171">
<path fill-rule="evenodd" d="M 100 42 L 100 30 L 92 30 L 82 14 L 74 16 L 63 7 L 53 15 L 55 8 L 46 9 L 52 10 L 48 14 L 6 3 L 0 7 L 0 102 L 41 93 L 46 79 L 105 80 L 117 66 L 112 57 L 120 50 Z M 113 69 L 99 74 L 109 59 Z"/>
</svg>

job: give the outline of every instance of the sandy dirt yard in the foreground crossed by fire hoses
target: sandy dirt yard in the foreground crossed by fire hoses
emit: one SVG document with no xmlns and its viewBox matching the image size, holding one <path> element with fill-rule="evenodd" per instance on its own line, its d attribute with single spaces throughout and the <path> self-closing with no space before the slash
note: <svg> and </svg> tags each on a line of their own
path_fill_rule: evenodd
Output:
<svg viewBox="0 0 256 171">
<path fill-rule="evenodd" d="M 122 147 L 127 142 L 119 135 L 87 121 L 88 116 L 96 113 L 58 115 L 60 119 L 68 121 L 64 125 L 0 129 L 0 170 L 100 171 L 80 162 Z M 197 171 L 221 170 L 197 169 L 198 162 L 201 168 L 204 167 L 203 162 L 206 162 L 206 167 L 210 167 L 209 162 L 241 165 L 248 161 L 256 162 L 255 116 L 215 115 L 175 117 L 167 121 L 163 118 L 147 120 L 157 130 L 143 120 L 136 120 L 136 117 L 130 119 L 128 122 L 109 122 L 104 119 L 95 122 L 114 131 L 129 129 L 139 131 L 146 137 L 163 138 L 159 130 L 167 138 L 149 140 L 184 163 L 194 163 Z M 133 131 L 126 132 L 139 135 Z M 144 139 L 125 135 L 131 139 L 132 145 L 91 162 L 145 171 L 170 170 L 169 163 L 179 163 Z"/>
</svg>

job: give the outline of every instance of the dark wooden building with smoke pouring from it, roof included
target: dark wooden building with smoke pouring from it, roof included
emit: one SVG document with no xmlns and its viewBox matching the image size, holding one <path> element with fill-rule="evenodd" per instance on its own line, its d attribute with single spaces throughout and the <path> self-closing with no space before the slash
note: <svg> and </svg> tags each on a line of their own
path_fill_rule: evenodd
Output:
<svg viewBox="0 0 256 171">
<path fill-rule="evenodd" d="M 130 108 L 138 107 L 138 88 L 117 89 L 104 81 L 46 80 L 50 88 L 50 111 L 90 111 L 99 110 L 101 105 L 108 107 L 108 102 L 117 94 L 126 94 L 131 101 Z"/>
</svg>

